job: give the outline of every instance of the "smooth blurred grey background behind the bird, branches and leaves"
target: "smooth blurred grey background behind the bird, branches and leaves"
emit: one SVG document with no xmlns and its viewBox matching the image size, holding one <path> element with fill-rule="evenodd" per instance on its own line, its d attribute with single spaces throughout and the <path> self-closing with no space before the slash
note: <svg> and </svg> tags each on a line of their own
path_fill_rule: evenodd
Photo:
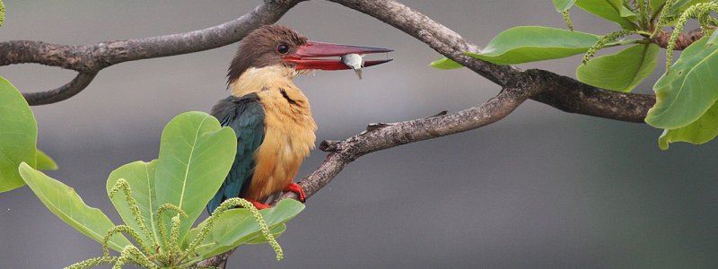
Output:
<svg viewBox="0 0 718 269">
<path fill-rule="evenodd" d="M 90 44 L 203 29 L 260 1 L 5 0 L 0 40 Z M 403 1 L 464 38 L 486 44 L 518 25 L 565 27 L 551 1 Z M 577 30 L 617 30 L 575 10 Z M 297 79 L 320 126 L 318 143 L 372 122 L 427 117 L 477 105 L 499 90 L 468 70 L 439 71 L 425 44 L 363 13 L 302 3 L 279 23 L 310 39 L 394 48 L 395 61 Z M 87 204 L 117 213 L 105 192 L 112 169 L 157 156 L 162 127 L 225 97 L 236 44 L 103 70 L 70 100 L 34 107 L 48 174 Z M 661 57 L 663 55 L 661 54 Z M 580 56 L 540 67 L 573 75 Z M 659 68 L 662 66 L 662 60 Z M 652 76 L 640 86 L 650 92 Z M 73 72 L 0 67 L 21 91 L 55 88 Z M 714 268 L 718 264 L 716 143 L 658 149 L 661 130 L 572 115 L 528 101 L 492 126 L 376 152 L 312 196 L 279 239 L 241 247 L 229 268 Z M 314 151 L 301 176 L 326 153 Z M 0 194 L 0 268 L 58 268 L 101 256 L 28 187 Z"/>
</svg>

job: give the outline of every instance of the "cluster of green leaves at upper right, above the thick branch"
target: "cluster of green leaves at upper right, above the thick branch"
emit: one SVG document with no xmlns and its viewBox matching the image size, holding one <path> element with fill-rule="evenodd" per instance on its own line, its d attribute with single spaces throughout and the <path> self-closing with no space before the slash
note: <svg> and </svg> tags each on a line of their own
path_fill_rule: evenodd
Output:
<svg viewBox="0 0 718 269">
<path fill-rule="evenodd" d="M 554 0 L 569 30 L 542 26 L 519 26 L 504 30 L 479 53 L 465 53 L 498 65 L 563 58 L 583 54 L 576 78 L 583 83 L 610 91 L 632 91 L 652 74 L 660 47 L 656 39 L 669 34 L 666 72 L 653 86 L 656 104 L 646 123 L 664 129 L 661 149 L 672 142 L 705 143 L 718 135 L 718 77 L 711 66 L 718 64 L 718 2 L 711 0 Z M 617 24 L 618 29 L 603 35 L 574 30 L 569 17 L 572 7 L 581 8 Z M 695 19 L 705 37 L 686 48 L 671 65 L 672 51 L 686 22 Z M 594 55 L 602 48 L 625 46 L 613 55 Z M 442 58 L 431 64 L 438 69 L 460 68 Z"/>
</svg>

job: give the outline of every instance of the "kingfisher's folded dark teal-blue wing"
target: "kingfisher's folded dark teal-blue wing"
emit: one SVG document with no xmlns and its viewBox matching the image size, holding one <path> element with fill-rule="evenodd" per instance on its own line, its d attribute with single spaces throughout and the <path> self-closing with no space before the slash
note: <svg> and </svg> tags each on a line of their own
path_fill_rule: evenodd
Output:
<svg viewBox="0 0 718 269">
<path fill-rule="evenodd" d="M 254 152 L 264 140 L 265 111 L 256 93 L 242 97 L 228 97 L 220 100 L 212 115 L 219 119 L 222 126 L 229 126 L 237 134 L 237 156 L 232 163 L 222 187 L 207 203 L 207 213 L 213 213 L 224 200 L 240 197 L 250 186 L 252 172 L 256 165 Z"/>
</svg>

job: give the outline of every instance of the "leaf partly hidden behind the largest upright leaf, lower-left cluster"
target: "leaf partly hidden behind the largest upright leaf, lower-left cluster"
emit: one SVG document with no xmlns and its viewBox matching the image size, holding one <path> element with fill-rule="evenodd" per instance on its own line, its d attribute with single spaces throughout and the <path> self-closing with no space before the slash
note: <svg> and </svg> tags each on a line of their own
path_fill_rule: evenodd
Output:
<svg viewBox="0 0 718 269">
<path fill-rule="evenodd" d="M 126 165 L 123 165 L 109 173 L 109 178 L 107 179 L 107 192 L 109 195 L 109 191 L 115 186 L 115 184 L 117 184 L 119 178 L 125 178 L 127 184 L 132 190 L 132 197 L 135 198 L 135 201 L 137 202 L 137 207 L 139 207 L 144 225 L 149 228 L 154 237 L 147 238 L 144 236 L 141 226 L 137 223 L 137 221 L 135 221 L 135 215 L 132 213 L 132 210 L 130 210 L 129 204 L 127 204 L 124 192 L 120 191 L 118 194 L 114 195 L 110 199 L 112 204 L 114 204 L 115 208 L 118 210 L 119 216 L 122 217 L 122 221 L 125 221 L 129 227 L 142 235 L 145 242 L 155 242 L 159 244 L 160 239 L 159 232 L 157 231 L 158 226 L 155 215 L 159 205 L 157 204 L 157 195 L 154 190 L 154 170 L 156 168 L 157 160 L 150 162 L 135 161 L 127 163 Z"/>
</svg>

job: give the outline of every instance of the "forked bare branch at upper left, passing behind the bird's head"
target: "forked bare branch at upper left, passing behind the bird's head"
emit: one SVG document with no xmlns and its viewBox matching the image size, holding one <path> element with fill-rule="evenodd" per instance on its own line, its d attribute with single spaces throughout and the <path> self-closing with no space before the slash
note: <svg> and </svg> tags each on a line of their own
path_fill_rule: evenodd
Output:
<svg viewBox="0 0 718 269">
<path fill-rule="evenodd" d="M 95 74 L 109 65 L 162 56 L 175 56 L 218 48 L 244 38 L 251 30 L 274 23 L 304 0 L 265 0 L 252 12 L 231 22 L 203 30 L 161 37 L 101 42 L 72 46 L 41 41 L 0 43 L 0 65 L 36 63 L 71 69 L 80 74 L 72 82 L 51 91 L 23 93 L 31 105 L 66 100 L 83 91 Z"/>
</svg>

